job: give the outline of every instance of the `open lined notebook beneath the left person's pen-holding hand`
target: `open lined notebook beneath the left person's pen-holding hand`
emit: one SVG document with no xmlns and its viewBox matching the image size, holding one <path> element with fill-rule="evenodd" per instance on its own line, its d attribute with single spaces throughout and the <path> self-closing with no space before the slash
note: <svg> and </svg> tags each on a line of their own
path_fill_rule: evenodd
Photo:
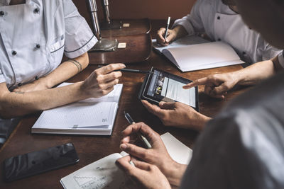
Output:
<svg viewBox="0 0 284 189">
<path fill-rule="evenodd" d="M 67 84 L 60 86 L 65 85 Z M 122 84 L 117 84 L 107 96 L 45 110 L 31 128 L 31 132 L 111 135 L 121 91 Z"/>
</svg>

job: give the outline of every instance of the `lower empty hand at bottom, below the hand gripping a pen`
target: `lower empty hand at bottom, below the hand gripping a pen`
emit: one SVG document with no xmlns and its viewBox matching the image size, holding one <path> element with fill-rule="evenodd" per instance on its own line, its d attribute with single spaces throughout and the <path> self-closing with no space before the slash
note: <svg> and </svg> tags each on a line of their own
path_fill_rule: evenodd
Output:
<svg viewBox="0 0 284 189">
<path fill-rule="evenodd" d="M 135 166 L 131 166 L 129 161 L 133 161 Z M 131 160 L 130 156 L 118 159 L 116 164 L 118 164 L 133 181 L 142 185 L 143 188 L 170 188 L 170 183 L 157 166 L 136 159 Z"/>
</svg>

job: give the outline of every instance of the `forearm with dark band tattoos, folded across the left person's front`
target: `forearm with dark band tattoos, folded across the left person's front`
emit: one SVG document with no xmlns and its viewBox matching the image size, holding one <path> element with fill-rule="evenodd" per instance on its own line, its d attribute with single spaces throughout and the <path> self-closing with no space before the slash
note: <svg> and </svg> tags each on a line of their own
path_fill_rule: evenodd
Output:
<svg viewBox="0 0 284 189">
<path fill-rule="evenodd" d="M 44 76 L 38 80 L 38 82 L 43 82 L 46 84 L 47 88 L 52 88 L 53 86 L 70 79 L 72 76 L 80 73 L 89 64 L 89 56 L 86 53 L 77 57 L 75 59 L 69 59 L 62 62 L 58 68 L 52 71 L 47 76 Z"/>
</svg>

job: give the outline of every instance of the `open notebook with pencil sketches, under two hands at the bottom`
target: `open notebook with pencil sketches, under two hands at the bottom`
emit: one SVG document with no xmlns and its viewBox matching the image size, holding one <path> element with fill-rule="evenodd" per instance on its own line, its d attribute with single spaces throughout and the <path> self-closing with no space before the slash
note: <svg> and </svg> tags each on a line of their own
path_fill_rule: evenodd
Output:
<svg viewBox="0 0 284 189">
<path fill-rule="evenodd" d="M 160 136 L 170 156 L 180 164 L 189 164 L 192 156 L 192 149 L 182 144 L 170 133 Z M 91 188 L 136 188 L 132 181 L 115 164 L 127 154 L 122 151 L 120 154 L 111 154 L 99 159 L 92 164 L 61 178 L 60 183 L 65 189 L 91 189 Z"/>
</svg>

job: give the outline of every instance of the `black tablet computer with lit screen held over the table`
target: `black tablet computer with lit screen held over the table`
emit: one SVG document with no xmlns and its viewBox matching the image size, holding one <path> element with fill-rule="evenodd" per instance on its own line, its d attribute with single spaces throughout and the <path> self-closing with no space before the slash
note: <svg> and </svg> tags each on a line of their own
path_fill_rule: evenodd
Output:
<svg viewBox="0 0 284 189">
<path fill-rule="evenodd" d="M 199 111 L 198 86 L 184 89 L 182 86 L 192 82 L 189 79 L 170 74 L 159 69 L 151 69 L 144 79 L 138 98 L 150 103 L 158 104 L 160 101 L 180 102 L 190 105 Z"/>
</svg>

